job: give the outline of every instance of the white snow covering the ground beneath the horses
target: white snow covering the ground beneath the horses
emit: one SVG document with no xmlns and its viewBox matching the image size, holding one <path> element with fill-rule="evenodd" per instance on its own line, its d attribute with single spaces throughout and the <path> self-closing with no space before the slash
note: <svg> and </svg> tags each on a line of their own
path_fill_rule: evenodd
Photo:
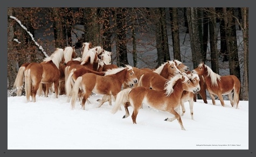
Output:
<svg viewBox="0 0 256 157">
<path fill-rule="evenodd" d="M 8 149 L 248 149 L 248 101 L 240 101 L 239 109 L 219 100 L 205 104 L 197 100 L 191 119 L 189 102 L 181 117 L 184 128 L 170 113 L 148 108 L 137 115 L 137 124 L 131 116 L 122 118 L 124 108 L 110 113 L 112 106 L 105 102 L 97 108 L 92 95 L 91 104 L 82 110 L 77 101 L 75 109 L 66 95 L 55 98 L 37 96 L 36 102 L 26 102 L 25 96 L 8 97 Z M 132 115 L 133 108 L 128 108 Z M 181 113 L 181 109 L 180 109 Z"/>
</svg>

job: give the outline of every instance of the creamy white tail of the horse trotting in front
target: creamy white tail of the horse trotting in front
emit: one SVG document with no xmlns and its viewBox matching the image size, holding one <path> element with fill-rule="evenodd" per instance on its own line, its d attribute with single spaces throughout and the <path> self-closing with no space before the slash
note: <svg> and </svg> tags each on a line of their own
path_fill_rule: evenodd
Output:
<svg viewBox="0 0 256 157">
<path fill-rule="evenodd" d="M 121 104 L 129 102 L 129 93 L 132 88 L 123 89 L 116 95 L 115 106 L 112 108 L 111 113 L 115 114 L 120 109 Z"/>
</svg>

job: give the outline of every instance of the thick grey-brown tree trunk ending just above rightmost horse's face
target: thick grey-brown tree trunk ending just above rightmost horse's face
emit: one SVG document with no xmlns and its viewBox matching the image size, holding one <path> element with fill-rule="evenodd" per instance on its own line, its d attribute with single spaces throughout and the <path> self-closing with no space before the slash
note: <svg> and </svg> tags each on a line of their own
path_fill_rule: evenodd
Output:
<svg viewBox="0 0 256 157">
<path fill-rule="evenodd" d="M 198 14 L 196 8 L 187 8 L 187 17 L 189 24 L 189 36 L 190 36 L 190 46 L 192 53 L 192 62 L 193 69 L 197 68 L 198 64 L 200 64 L 202 59 L 202 39 L 200 39 L 199 31 L 202 31 L 198 27 Z"/>
</svg>

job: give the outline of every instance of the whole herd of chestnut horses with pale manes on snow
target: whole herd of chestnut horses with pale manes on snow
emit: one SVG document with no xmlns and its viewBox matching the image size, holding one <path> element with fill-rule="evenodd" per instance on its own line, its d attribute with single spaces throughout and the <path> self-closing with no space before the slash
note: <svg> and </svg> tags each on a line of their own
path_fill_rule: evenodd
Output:
<svg viewBox="0 0 256 157">
<path fill-rule="evenodd" d="M 102 95 L 98 100 L 101 107 L 107 102 L 115 114 L 125 109 L 123 118 L 129 117 L 128 107 L 133 108 L 132 120 L 136 117 L 142 105 L 167 111 L 174 117 L 165 121 L 177 119 L 182 130 L 185 130 L 181 115 L 185 113 L 184 103 L 189 101 L 190 115 L 193 119 L 193 102 L 200 94 L 204 103 L 206 90 L 209 92 L 212 104 L 216 104 L 215 95 L 224 107 L 223 95 L 228 95 L 231 106 L 238 108 L 240 81 L 236 76 L 220 76 L 209 66 L 201 63 L 192 71 L 178 60 L 167 61 L 157 69 L 135 68 L 130 65 L 118 67 L 112 64 L 112 53 L 102 47 L 92 47 L 91 42 L 82 44 L 81 57 L 75 58 L 74 47 L 56 48 L 50 57 L 41 63 L 24 63 L 20 66 L 14 87 L 17 96 L 22 95 L 25 88 L 27 102 L 36 102 L 36 95 L 47 97 L 51 88 L 55 98 L 66 94 L 67 102 L 71 100 L 71 109 L 77 103 L 85 109 L 90 96 Z M 32 98 L 32 100 L 31 100 Z M 179 114 L 179 108 L 182 114 Z"/>
</svg>

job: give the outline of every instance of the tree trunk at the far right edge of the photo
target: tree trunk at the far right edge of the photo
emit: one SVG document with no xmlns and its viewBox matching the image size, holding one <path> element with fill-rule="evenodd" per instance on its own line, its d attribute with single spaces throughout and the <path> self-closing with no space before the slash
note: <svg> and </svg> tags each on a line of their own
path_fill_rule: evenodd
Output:
<svg viewBox="0 0 256 157">
<path fill-rule="evenodd" d="M 241 100 L 249 100 L 249 18 L 248 18 L 248 8 L 241 8 L 241 16 L 243 23 L 243 39 L 244 39 L 244 84 L 241 95 L 243 98 Z"/>
</svg>

